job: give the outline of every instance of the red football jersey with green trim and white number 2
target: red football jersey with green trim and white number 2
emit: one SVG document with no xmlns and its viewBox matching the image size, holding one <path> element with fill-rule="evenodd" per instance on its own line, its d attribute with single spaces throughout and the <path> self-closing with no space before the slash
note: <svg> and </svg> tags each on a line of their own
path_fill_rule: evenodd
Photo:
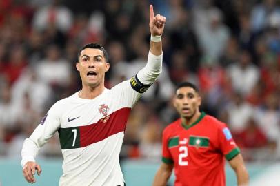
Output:
<svg viewBox="0 0 280 186">
<path fill-rule="evenodd" d="M 181 118 L 163 131 L 164 163 L 174 163 L 175 186 L 226 185 L 225 158 L 239 154 L 225 123 L 202 112 L 192 125 Z"/>
</svg>

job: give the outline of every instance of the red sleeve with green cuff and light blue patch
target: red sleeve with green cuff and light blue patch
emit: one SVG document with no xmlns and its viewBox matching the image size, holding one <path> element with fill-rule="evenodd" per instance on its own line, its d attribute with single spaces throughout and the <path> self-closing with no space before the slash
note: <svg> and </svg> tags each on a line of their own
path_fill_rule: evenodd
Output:
<svg viewBox="0 0 280 186">
<path fill-rule="evenodd" d="M 237 156 L 237 154 L 240 153 L 239 147 L 237 147 L 237 144 L 232 138 L 230 130 L 228 129 L 228 127 L 226 127 L 225 124 L 219 127 L 218 133 L 219 148 L 221 149 L 223 155 L 226 156 L 226 159 L 230 161 L 232 158 L 234 158 L 235 156 Z"/>
</svg>

